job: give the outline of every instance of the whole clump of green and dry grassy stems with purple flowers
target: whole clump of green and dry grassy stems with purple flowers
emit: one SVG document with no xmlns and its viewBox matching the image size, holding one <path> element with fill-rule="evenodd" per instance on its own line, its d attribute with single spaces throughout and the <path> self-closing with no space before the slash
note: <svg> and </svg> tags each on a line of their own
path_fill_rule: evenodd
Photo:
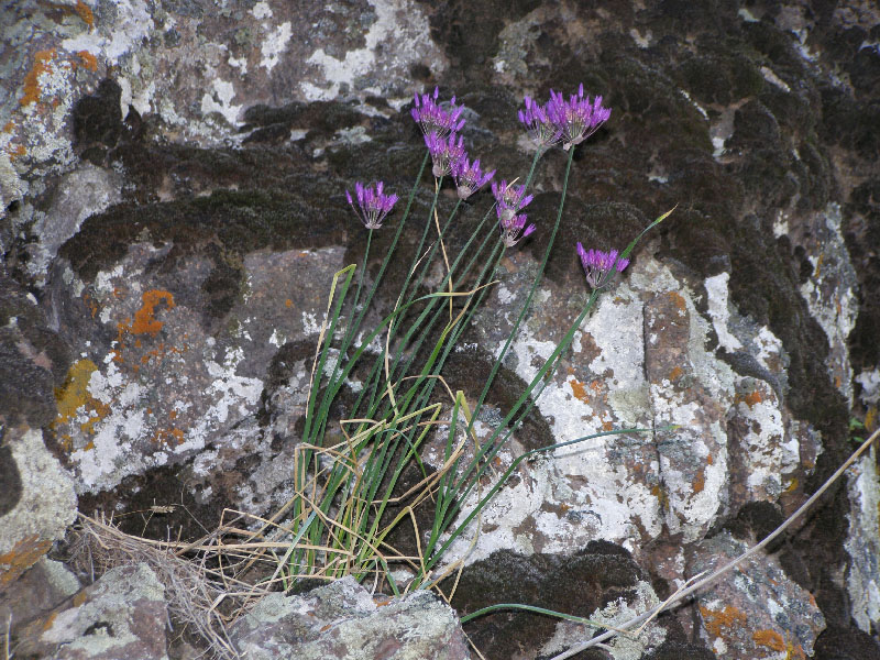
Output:
<svg viewBox="0 0 880 660">
<path fill-rule="evenodd" d="M 535 139 L 536 151 L 525 183 L 493 183 L 494 202 L 461 251 L 450 254 L 447 243 L 450 232 L 454 231 L 454 219 L 463 200 L 484 187 L 495 170 L 483 172 L 479 158 L 473 162 L 469 158 L 459 134 L 464 123 L 460 119 L 462 109 L 455 105 L 454 97 L 448 106 L 438 102 L 438 98 L 437 90 L 432 96 L 416 97 L 411 112 L 425 133 L 427 153 L 391 248 L 369 287 L 365 273 L 373 231 L 386 231 L 383 221 L 398 198 L 386 193 L 381 182 L 374 186 L 358 183 L 354 196 L 346 193 L 349 204 L 367 232 L 364 261 L 360 270 L 354 265 L 343 268 L 331 283 L 312 363 L 305 428 L 292 466 L 295 494 L 280 512 L 260 525 L 248 541 L 267 541 L 270 535 L 287 539 L 288 546 L 283 552 L 270 552 L 266 548 L 261 557 L 264 560 L 271 556 L 276 561 L 271 579 L 282 581 L 285 588 L 307 578 L 333 580 L 349 574 L 394 594 L 413 588 L 437 588 L 451 570 L 446 565 L 449 563 L 446 560 L 449 548 L 481 515 L 513 472 L 513 468 L 508 469 L 483 493 L 492 460 L 528 415 L 576 330 L 602 292 L 624 271 L 632 249 L 645 233 L 619 253 L 595 250 L 587 253 L 578 244 L 592 293 L 557 349 L 510 409 L 504 413 L 502 422 L 488 439 L 479 442 L 474 422 L 531 309 L 553 250 L 575 146 L 608 119 L 610 110 L 602 106 L 601 97 L 591 100 L 584 96 L 583 86 L 568 100 L 557 94 L 552 94 L 543 106 L 527 99 L 519 119 Z M 538 274 L 471 410 L 465 394 L 455 388 L 454 382 L 448 382 L 443 366 L 495 284 L 496 266 L 501 260 L 508 250 L 538 231 L 537 224 L 529 222 L 526 213 L 532 199 L 529 189 L 538 160 L 556 144 L 561 144 L 568 155 L 556 222 Z M 402 258 L 397 255 L 397 245 L 405 226 L 413 221 L 413 201 L 429 158 L 435 196 L 427 217 L 421 221 L 418 246 L 408 257 L 403 287 L 392 311 L 374 328 L 364 329 L 366 311 L 383 286 L 391 260 Z M 441 222 L 439 195 L 449 178 L 454 182 L 459 199 Z M 658 218 L 645 231 L 668 215 Z M 419 295 L 426 284 L 426 274 L 435 264 L 442 268 L 442 282 L 432 293 Z M 371 352 L 371 346 L 376 344 L 381 349 Z M 371 361 L 372 366 L 367 366 Z M 366 364 L 361 365 L 361 362 Z M 348 417 L 330 419 L 330 410 L 344 383 L 359 366 L 369 375 Z M 438 384 L 446 391 L 440 403 L 432 398 Z M 447 435 L 442 461 L 439 468 L 429 470 L 422 463 L 421 449 L 426 438 L 438 432 L 440 427 L 446 428 Z M 615 432 L 642 431 L 647 429 Z M 603 435 L 607 433 L 564 440 L 536 452 L 550 452 Z M 525 458 L 517 459 L 514 465 Z M 402 475 L 414 468 L 421 479 L 402 492 Z M 461 507 L 474 492 L 479 504 L 462 516 Z M 429 528 L 419 529 L 416 512 L 424 506 L 432 507 L 431 522 Z M 402 526 L 411 527 L 415 553 L 403 552 L 391 542 L 393 534 Z M 398 583 L 395 575 L 403 582 Z"/>
</svg>

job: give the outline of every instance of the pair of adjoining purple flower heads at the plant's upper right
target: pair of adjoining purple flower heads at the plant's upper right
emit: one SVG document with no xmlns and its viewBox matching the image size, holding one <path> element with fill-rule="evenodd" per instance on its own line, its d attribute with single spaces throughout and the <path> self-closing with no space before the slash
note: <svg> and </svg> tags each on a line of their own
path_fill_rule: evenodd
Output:
<svg viewBox="0 0 880 660">
<path fill-rule="evenodd" d="M 550 100 L 543 106 L 529 97 L 525 101 L 526 109 L 519 111 L 519 121 L 540 150 L 561 141 L 562 148 L 569 151 L 595 133 L 612 116 L 610 109 L 602 105 L 601 96 L 592 101 L 584 96 L 583 84 L 568 101 L 552 89 Z"/>
</svg>

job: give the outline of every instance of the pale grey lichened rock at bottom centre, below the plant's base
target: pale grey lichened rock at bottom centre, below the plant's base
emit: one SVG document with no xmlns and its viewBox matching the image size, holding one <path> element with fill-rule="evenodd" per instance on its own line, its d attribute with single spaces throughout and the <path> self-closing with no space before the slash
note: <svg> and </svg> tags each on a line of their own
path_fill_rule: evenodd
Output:
<svg viewBox="0 0 880 660">
<path fill-rule="evenodd" d="M 302 596 L 270 594 L 231 637 L 240 652 L 261 660 L 470 658 L 454 612 L 435 595 L 374 600 L 353 578 Z"/>
</svg>

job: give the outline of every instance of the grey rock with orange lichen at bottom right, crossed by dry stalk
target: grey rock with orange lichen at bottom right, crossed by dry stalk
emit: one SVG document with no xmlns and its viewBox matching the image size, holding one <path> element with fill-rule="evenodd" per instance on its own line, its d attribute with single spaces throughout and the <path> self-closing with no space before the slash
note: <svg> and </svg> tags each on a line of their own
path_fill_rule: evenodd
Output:
<svg viewBox="0 0 880 660">
<path fill-rule="evenodd" d="M 693 546 L 689 574 L 712 572 L 748 549 L 728 532 Z M 752 658 L 806 658 L 813 654 L 825 617 L 813 596 L 763 553 L 706 587 L 697 597 L 700 637 L 716 654 Z"/>
</svg>

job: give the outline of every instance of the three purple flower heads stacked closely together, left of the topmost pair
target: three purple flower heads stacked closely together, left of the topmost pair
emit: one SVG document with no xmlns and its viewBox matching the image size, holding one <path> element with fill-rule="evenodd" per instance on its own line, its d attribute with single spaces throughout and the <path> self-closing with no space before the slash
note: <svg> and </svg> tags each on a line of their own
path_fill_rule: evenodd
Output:
<svg viewBox="0 0 880 660">
<path fill-rule="evenodd" d="M 485 186 L 495 170 L 484 173 L 480 158 L 471 163 L 464 151 L 463 139 L 459 135 L 464 120 L 460 119 L 464 110 L 455 106 L 455 97 L 450 101 L 450 110 L 444 110 L 437 102 L 439 90 L 433 95 L 416 95 L 415 108 L 410 114 L 425 133 L 425 145 L 431 154 L 432 172 L 437 178 L 452 175 L 460 199 L 468 199 Z"/>
</svg>

